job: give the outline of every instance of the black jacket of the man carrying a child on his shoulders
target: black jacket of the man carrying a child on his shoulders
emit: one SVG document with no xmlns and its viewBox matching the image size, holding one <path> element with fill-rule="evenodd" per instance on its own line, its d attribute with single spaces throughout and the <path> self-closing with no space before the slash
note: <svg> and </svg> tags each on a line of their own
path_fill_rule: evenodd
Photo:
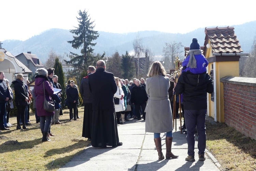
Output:
<svg viewBox="0 0 256 171">
<path fill-rule="evenodd" d="M 183 72 L 174 88 L 176 94 L 183 93 L 184 110 L 207 109 L 207 93 L 213 92 L 212 79 L 208 73 Z"/>
</svg>

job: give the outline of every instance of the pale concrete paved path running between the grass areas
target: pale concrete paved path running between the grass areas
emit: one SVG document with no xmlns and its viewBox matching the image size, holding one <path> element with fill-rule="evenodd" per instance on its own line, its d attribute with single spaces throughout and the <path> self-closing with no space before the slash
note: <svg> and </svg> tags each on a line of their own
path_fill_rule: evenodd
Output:
<svg viewBox="0 0 256 171">
<path fill-rule="evenodd" d="M 218 162 L 214 157 L 205 155 L 205 161 L 198 161 L 197 141 L 195 144 L 195 162 L 185 161 L 187 157 L 186 134 L 181 134 L 177 119 L 177 131 L 173 131 L 172 152 L 179 155 L 176 159 L 158 161 L 154 143 L 154 134 L 145 132 L 145 121 L 131 119 L 118 125 L 119 147 L 94 148 L 88 146 L 83 153 L 75 156 L 72 161 L 58 171 L 218 171 Z M 165 134 L 161 133 L 162 152 L 165 156 Z M 210 157 L 209 157 L 210 156 Z M 214 164 L 215 163 L 215 164 Z"/>
</svg>

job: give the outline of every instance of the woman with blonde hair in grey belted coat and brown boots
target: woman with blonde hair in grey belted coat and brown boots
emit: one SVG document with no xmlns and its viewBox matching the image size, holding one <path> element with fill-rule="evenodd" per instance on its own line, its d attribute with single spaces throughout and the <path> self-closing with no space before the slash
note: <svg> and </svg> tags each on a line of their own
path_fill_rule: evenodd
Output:
<svg viewBox="0 0 256 171">
<path fill-rule="evenodd" d="M 169 78 L 165 77 L 166 71 L 159 61 L 155 61 L 146 79 L 146 92 L 149 96 L 145 112 L 146 132 L 154 133 L 154 141 L 158 152 L 158 160 L 165 157 L 162 154 L 160 133 L 166 132 L 166 158 L 177 158 L 171 152 L 172 146 L 172 112 L 168 89 L 170 87 Z"/>
</svg>

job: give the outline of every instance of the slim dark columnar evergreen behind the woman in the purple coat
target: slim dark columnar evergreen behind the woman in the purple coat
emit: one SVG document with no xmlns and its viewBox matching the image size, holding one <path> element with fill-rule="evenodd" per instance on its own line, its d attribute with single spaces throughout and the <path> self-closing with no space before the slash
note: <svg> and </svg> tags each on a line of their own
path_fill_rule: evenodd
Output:
<svg viewBox="0 0 256 171">
<path fill-rule="evenodd" d="M 60 84 L 61 89 L 63 91 L 62 98 L 61 98 L 61 103 L 64 104 L 65 89 L 66 89 L 65 75 L 64 75 L 64 72 L 63 72 L 63 69 L 62 69 L 62 64 L 61 64 L 61 62 L 60 62 L 58 57 L 55 58 L 55 63 L 54 63 L 53 68 L 55 69 L 54 73 L 55 73 L 55 75 L 58 76 L 58 83 Z"/>
</svg>

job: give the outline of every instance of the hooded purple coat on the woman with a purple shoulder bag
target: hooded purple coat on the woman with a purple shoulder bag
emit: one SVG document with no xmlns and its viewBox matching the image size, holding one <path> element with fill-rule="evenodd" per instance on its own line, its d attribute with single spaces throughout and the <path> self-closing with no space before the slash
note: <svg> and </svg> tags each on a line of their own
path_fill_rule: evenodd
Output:
<svg viewBox="0 0 256 171">
<path fill-rule="evenodd" d="M 44 87 L 43 87 L 44 82 Z M 44 110 L 44 89 L 45 89 L 45 98 L 46 100 L 52 100 L 51 95 L 53 95 L 53 87 L 51 87 L 48 82 L 48 78 L 43 75 L 35 76 L 35 96 L 36 106 L 37 106 L 37 115 L 38 116 L 51 116 L 54 115 L 53 112 L 47 112 Z"/>
</svg>

